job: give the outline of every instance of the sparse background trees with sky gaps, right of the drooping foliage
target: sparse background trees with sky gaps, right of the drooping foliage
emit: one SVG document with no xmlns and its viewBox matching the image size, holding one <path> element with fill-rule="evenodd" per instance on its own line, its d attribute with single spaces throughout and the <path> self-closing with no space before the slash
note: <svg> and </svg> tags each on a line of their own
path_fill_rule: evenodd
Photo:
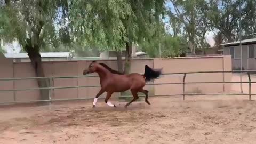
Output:
<svg viewBox="0 0 256 144">
<path fill-rule="evenodd" d="M 174 36 L 182 34 L 189 41 L 191 52 L 208 47 L 205 36 L 218 30 L 223 42 L 239 39 L 239 4 L 242 7 L 242 38 L 252 38 L 256 33 L 256 1 L 254 0 L 170 0 L 173 8 L 168 11 Z M 219 43 L 219 42 L 218 42 Z M 194 49 L 194 50 L 193 50 Z"/>
</svg>

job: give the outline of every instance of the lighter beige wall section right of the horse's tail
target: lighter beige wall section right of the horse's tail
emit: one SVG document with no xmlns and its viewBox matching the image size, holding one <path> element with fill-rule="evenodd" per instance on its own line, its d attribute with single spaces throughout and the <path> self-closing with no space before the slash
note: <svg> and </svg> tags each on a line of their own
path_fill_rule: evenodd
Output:
<svg viewBox="0 0 256 144">
<path fill-rule="evenodd" d="M 195 57 L 154 59 L 154 68 L 163 67 L 163 73 L 185 73 L 196 71 L 230 71 L 231 58 L 225 57 Z M 155 83 L 182 83 L 183 74 L 164 75 Z M 231 74 L 201 73 L 187 74 L 185 82 L 223 82 L 231 81 Z M 228 92 L 230 84 L 186 84 L 186 93 L 217 93 Z M 155 94 L 182 94 L 182 84 L 155 85 Z"/>
</svg>

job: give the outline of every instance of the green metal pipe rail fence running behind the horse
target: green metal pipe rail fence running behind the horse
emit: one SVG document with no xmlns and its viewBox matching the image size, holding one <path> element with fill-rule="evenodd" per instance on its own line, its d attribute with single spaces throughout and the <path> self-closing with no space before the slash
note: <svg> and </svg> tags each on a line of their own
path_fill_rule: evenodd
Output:
<svg viewBox="0 0 256 144">
<path fill-rule="evenodd" d="M 200 74 L 200 73 L 247 73 L 249 81 L 243 82 L 185 82 L 187 74 Z M 249 95 L 249 100 L 251 100 L 251 83 L 256 83 L 251 81 L 251 73 L 256 73 L 256 70 L 233 70 L 233 71 L 193 71 L 186 73 L 165 73 L 163 75 L 181 75 L 183 74 L 183 81 L 181 83 L 154 83 L 146 85 L 170 85 L 170 84 L 182 84 L 182 94 L 169 94 L 169 95 L 149 95 L 150 97 L 168 97 L 168 96 L 182 96 L 182 99 L 185 100 L 186 95 Z M 19 80 L 31 80 L 31 79 L 55 79 L 55 78 L 87 78 L 87 77 L 98 77 L 98 76 L 66 76 L 66 77 L 26 77 L 26 78 L 0 78 L 1 81 L 19 81 Z M 249 93 L 185 93 L 186 84 L 214 84 L 214 83 L 248 83 L 249 84 Z M 13 90 L 0 90 L 0 92 L 10 92 L 10 91 L 31 91 L 31 90 L 54 90 L 54 89 L 73 89 L 73 88 L 85 88 L 85 87 L 100 87 L 100 85 L 92 86 L 66 86 L 66 87 L 41 87 L 41 88 L 30 88 L 30 89 L 13 89 Z M 124 95 L 119 97 L 111 98 L 128 98 L 132 97 L 131 95 Z M 139 97 L 145 97 L 144 95 L 139 95 Z M 11 104 L 11 103 L 31 103 L 31 102 L 44 102 L 44 101 L 67 101 L 67 100 L 85 100 L 85 99 L 94 99 L 91 98 L 75 98 L 75 99 L 51 99 L 49 94 L 49 100 L 34 100 L 34 101 L 14 101 L 14 102 L 0 102 L 0 105 Z"/>
</svg>

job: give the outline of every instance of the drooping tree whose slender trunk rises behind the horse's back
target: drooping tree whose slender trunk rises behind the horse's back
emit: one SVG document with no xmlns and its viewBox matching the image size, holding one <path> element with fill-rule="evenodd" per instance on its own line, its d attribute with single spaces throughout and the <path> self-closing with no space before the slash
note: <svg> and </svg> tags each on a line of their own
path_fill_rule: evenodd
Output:
<svg viewBox="0 0 256 144">
<path fill-rule="evenodd" d="M 127 1 L 131 5 L 132 14 L 123 19 L 126 29 L 127 39 L 126 46 L 126 61 L 125 73 L 130 71 L 131 60 L 131 46 L 132 43 L 141 43 L 150 41 L 153 34 L 161 27 L 161 15 L 164 17 L 164 4 L 163 0 L 144 0 L 144 1 Z"/>
</svg>

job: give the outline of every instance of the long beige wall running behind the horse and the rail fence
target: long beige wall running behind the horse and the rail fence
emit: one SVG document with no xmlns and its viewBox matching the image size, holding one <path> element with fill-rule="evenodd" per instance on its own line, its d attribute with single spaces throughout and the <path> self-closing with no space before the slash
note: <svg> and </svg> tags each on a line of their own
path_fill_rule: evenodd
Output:
<svg viewBox="0 0 256 144">
<path fill-rule="evenodd" d="M 12 63 L 4 57 L 0 57 L 0 76 L 6 77 L 35 77 L 34 70 L 30 63 Z M 82 76 L 82 71 L 89 66 L 91 61 L 54 61 L 43 62 L 45 76 Z M 117 69 L 114 60 L 101 61 L 113 69 Z M 171 58 L 171 59 L 140 59 L 132 60 L 131 71 L 144 73 L 145 65 L 154 68 L 163 68 L 163 73 L 183 73 L 190 71 L 222 71 L 231 70 L 231 57 L 195 57 L 195 58 Z M 93 74 L 97 75 L 97 74 Z M 163 75 L 156 79 L 154 83 L 175 83 L 182 82 L 183 75 Z M 211 73 L 211 74 L 188 74 L 186 82 L 217 82 L 231 81 L 231 74 Z M 50 79 L 51 86 L 91 86 L 100 85 L 99 77 L 87 78 L 54 78 Z M 0 90 L 7 89 L 28 89 L 36 88 L 37 82 L 31 80 L 0 81 Z M 151 94 L 181 94 L 182 84 L 177 85 L 147 85 L 145 89 Z M 86 87 L 73 89 L 56 89 L 51 91 L 52 99 L 73 99 L 73 98 L 93 98 L 100 90 L 100 87 Z M 228 92 L 230 84 L 186 84 L 186 92 L 217 93 Z M 101 97 L 105 97 L 104 93 Z M 115 93 L 113 96 L 118 96 Z M 39 100 L 39 90 L 0 92 L 0 102 Z"/>
</svg>

